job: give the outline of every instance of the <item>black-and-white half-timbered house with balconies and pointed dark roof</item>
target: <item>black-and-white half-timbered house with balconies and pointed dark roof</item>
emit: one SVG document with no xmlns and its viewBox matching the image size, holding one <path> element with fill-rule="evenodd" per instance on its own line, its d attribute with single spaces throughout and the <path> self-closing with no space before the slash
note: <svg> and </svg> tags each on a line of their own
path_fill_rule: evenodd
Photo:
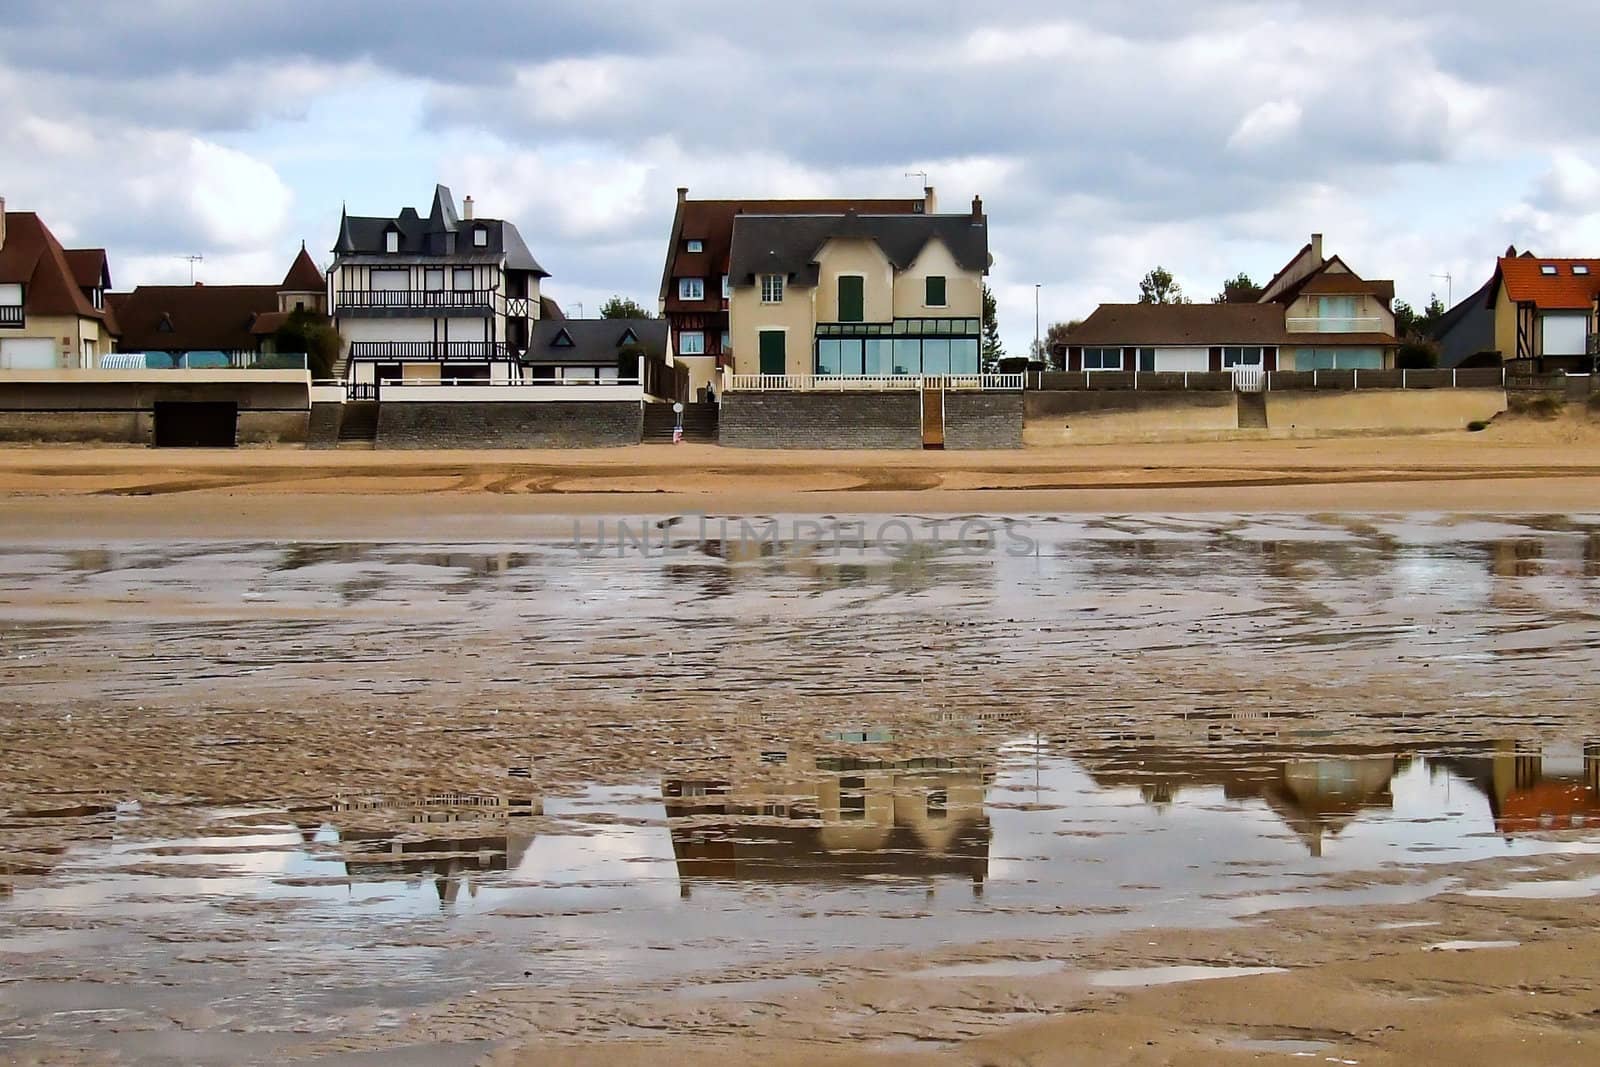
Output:
<svg viewBox="0 0 1600 1067">
<path fill-rule="evenodd" d="M 330 270 L 333 317 L 347 342 L 352 392 L 382 381 L 512 381 L 528 350 L 549 274 L 504 219 L 458 216 L 437 186 L 427 216 L 339 218 Z"/>
</svg>

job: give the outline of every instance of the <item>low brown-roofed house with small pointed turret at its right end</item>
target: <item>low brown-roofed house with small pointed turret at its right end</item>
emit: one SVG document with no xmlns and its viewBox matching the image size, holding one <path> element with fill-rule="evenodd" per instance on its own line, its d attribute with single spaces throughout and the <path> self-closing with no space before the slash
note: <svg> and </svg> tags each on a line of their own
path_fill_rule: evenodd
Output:
<svg viewBox="0 0 1600 1067">
<path fill-rule="evenodd" d="M 274 350 L 293 312 L 328 309 L 326 280 L 304 243 L 277 285 L 141 285 L 109 299 L 122 326 L 118 352 L 181 357 L 189 366 L 250 365 Z"/>
</svg>

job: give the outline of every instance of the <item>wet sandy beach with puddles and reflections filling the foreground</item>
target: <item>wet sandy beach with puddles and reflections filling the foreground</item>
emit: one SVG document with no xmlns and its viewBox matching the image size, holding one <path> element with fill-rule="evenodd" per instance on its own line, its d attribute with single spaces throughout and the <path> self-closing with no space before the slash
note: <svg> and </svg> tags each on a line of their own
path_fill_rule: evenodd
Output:
<svg viewBox="0 0 1600 1067">
<path fill-rule="evenodd" d="M 1589 1062 L 1600 504 L 1555 467 L 1506 478 L 1542 514 L 1034 490 L 990 547 L 907 491 L 904 544 L 648 555 L 549 493 L 11 496 L 0 1057 Z"/>
</svg>

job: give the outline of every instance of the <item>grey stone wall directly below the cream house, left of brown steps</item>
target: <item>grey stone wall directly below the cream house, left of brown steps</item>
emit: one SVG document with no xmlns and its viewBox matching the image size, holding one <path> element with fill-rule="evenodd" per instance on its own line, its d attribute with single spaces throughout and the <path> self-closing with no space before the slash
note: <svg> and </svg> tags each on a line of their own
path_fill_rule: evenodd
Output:
<svg viewBox="0 0 1600 1067">
<path fill-rule="evenodd" d="M 922 397 L 730 392 L 717 440 L 730 448 L 922 448 Z"/>
</svg>

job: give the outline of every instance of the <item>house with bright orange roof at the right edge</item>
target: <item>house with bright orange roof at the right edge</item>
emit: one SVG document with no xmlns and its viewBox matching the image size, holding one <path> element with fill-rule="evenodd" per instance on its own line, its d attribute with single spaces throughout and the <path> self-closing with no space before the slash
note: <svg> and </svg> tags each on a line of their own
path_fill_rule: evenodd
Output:
<svg viewBox="0 0 1600 1067">
<path fill-rule="evenodd" d="M 1539 371 L 1594 366 L 1600 259 L 1502 256 L 1485 291 L 1501 358 L 1533 360 Z"/>
</svg>

